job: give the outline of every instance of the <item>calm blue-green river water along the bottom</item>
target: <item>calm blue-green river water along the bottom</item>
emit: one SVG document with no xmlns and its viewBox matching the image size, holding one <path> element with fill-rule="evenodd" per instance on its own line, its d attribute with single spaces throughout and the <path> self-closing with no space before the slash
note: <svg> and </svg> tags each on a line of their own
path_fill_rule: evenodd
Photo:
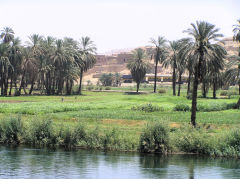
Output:
<svg viewBox="0 0 240 179">
<path fill-rule="evenodd" d="M 240 178 L 240 160 L 0 147 L 0 178 Z"/>
</svg>

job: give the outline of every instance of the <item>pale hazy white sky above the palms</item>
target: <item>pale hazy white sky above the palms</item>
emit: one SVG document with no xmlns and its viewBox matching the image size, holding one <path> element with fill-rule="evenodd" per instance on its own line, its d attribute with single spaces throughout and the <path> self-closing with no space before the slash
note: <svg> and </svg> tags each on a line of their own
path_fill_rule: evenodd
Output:
<svg viewBox="0 0 240 179">
<path fill-rule="evenodd" d="M 25 42 L 31 34 L 89 36 L 98 53 L 150 45 L 150 38 L 187 37 L 204 20 L 231 37 L 240 0 L 0 0 L 0 29 L 11 27 Z"/>
</svg>

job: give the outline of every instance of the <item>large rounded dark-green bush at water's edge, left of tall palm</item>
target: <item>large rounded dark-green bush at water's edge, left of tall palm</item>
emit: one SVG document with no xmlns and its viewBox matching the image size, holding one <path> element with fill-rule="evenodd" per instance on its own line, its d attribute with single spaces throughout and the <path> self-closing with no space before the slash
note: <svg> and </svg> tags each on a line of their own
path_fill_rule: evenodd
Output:
<svg viewBox="0 0 240 179">
<path fill-rule="evenodd" d="M 167 125 L 157 122 L 147 125 L 140 136 L 140 151 L 165 154 L 169 149 Z"/>
</svg>

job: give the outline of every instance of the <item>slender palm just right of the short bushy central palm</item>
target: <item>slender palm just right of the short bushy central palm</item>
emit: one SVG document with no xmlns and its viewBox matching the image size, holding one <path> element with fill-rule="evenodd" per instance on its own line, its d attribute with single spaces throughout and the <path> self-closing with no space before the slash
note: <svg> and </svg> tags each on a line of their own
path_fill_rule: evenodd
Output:
<svg viewBox="0 0 240 179">
<path fill-rule="evenodd" d="M 162 63 L 163 60 L 166 59 L 166 53 L 165 53 L 165 48 L 166 48 L 166 42 L 167 40 L 164 37 L 159 36 L 157 40 L 151 38 L 150 42 L 155 45 L 155 50 L 154 50 L 154 62 L 155 62 L 155 75 L 154 75 L 154 89 L 153 92 L 156 93 L 156 88 L 157 88 L 157 67 L 158 63 Z"/>
</svg>

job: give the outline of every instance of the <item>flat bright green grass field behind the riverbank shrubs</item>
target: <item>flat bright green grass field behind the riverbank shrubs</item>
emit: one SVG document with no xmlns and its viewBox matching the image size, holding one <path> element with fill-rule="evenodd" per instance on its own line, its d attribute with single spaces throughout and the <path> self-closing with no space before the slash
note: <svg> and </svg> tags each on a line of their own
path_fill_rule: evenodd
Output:
<svg viewBox="0 0 240 179">
<path fill-rule="evenodd" d="M 57 123 L 80 120 L 90 125 L 103 127 L 120 127 L 122 129 L 138 129 L 149 120 L 163 120 L 171 123 L 188 123 L 190 112 L 173 111 L 176 104 L 188 104 L 186 91 L 182 96 L 172 96 L 171 89 L 165 94 L 127 95 L 120 92 L 89 92 L 82 96 L 19 96 L 0 97 L 0 117 L 22 115 L 24 119 L 37 116 L 51 118 Z M 210 94 L 209 94 L 210 95 Z M 215 105 L 235 103 L 238 96 L 231 99 L 218 96 L 218 99 L 198 98 L 199 105 Z M 163 111 L 143 112 L 133 111 L 137 105 L 151 103 L 162 107 Z M 219 126 L 240 125 L 240 111 L 237 109 L 198 112 L 198 123 L 208 123 Z"/>
</svg>

